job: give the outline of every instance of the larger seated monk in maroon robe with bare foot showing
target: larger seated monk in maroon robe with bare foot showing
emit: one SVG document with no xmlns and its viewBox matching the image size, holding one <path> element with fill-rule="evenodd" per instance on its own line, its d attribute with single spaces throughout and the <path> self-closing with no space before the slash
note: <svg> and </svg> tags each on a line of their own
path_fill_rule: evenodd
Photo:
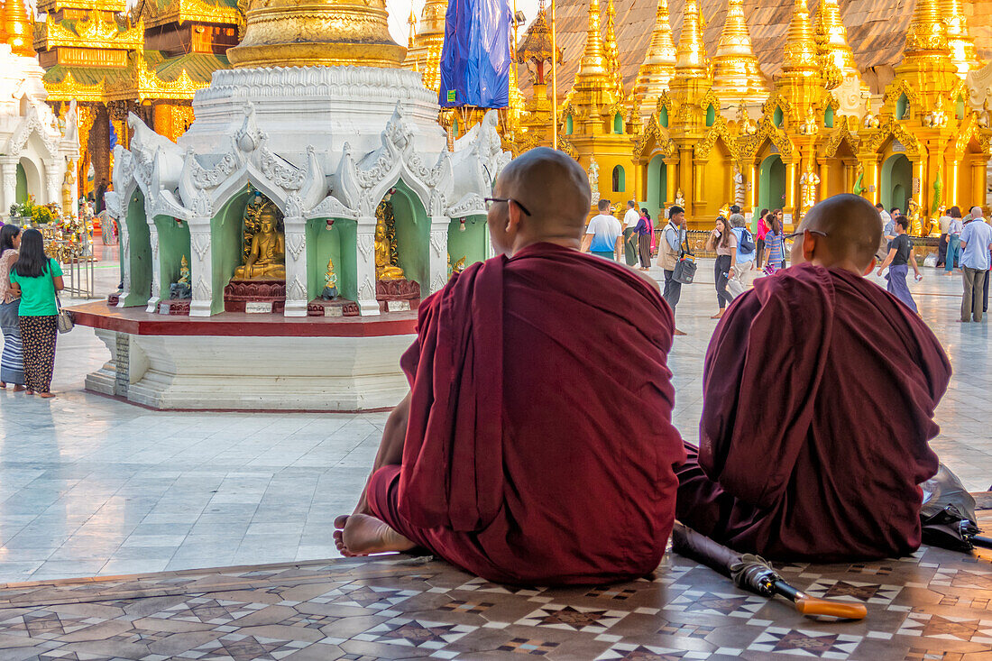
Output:
<svg viewBox="0 0 992 661">
<path fill-rule="evenodd" d="M 596 584 L 655 570 L 675 519 L 682 440 L 658 285 L 579 252 L 581 167 L 535 149 L 500 175 L 499 256 L 421 304 L 344 555 L 415 546 L 490 581 Z"/>
</svg>

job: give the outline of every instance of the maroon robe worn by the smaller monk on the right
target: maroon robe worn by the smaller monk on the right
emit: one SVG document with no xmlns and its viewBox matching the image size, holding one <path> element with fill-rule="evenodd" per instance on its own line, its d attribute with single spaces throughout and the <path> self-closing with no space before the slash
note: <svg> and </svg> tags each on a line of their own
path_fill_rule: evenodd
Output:
<svg viewBox="0 0 992 661">
<path fill-rule="evenodd" d="M 759 280 L 709 342 L 679 520 L 778 560 L 915 551 L 949 378 L 930 329 L 864 278 L 803 264 Z"/>
</svg>

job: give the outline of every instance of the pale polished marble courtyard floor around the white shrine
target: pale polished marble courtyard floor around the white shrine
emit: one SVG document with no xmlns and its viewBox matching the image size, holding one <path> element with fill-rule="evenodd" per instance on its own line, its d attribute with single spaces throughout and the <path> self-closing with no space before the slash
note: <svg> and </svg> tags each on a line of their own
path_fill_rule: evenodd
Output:
<svg viewBox="0 0 992 661">
<path fill-rule="evenodd" d="M 700 281 L 683 288 L 678 322 L 688 334 L 670 359 L 675 422 L 690 440 L 716 325 L 711 270 L 704 260 Z M 933 446 L 969 490 L 985 490 L 989 324 L 957 323 L 960 279 L 925 272 L 912 288 L 955 372 Z M 116 287 L 115 266 L 96 273 L 97 291 Z M 59 339 L 57 398 L 0 391 L 0 582 L 337 556 L 331 522 L 350 511 L 386 414 L 159 413 L 82 390 L 106 359 L 92 331 L 77 328 Z"/>
</svg>

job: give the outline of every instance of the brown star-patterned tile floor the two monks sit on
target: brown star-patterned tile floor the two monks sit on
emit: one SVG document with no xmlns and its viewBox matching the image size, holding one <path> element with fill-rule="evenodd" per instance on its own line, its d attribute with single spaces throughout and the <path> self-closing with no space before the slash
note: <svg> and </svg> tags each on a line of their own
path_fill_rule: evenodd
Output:
<svg viewBox="0 0 992 661">
<path fill-rule="evenodd" d="M 554 590 L 385 555 L 0 586 L 0 659 L 992 658 L 992 551 L 777 567 L 868 616 L 804 617 L 672 553 L 631 583 Z"/>
</svg>

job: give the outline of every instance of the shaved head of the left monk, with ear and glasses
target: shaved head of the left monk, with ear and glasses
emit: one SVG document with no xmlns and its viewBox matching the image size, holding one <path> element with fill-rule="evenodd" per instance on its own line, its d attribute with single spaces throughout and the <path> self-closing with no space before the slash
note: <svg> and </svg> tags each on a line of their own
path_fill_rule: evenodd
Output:
<svg viewBox="0 0 992 661">
<path fill-rule="evenodd" d="M 547 147 L 511 161 L 496 180 L 495 197 L 513 200 L 495 203 L 488 216 L 493 244 L 505 254 L 541 241 L 577 247 L 591 204 L 582 167 Z"/>
</svg>

